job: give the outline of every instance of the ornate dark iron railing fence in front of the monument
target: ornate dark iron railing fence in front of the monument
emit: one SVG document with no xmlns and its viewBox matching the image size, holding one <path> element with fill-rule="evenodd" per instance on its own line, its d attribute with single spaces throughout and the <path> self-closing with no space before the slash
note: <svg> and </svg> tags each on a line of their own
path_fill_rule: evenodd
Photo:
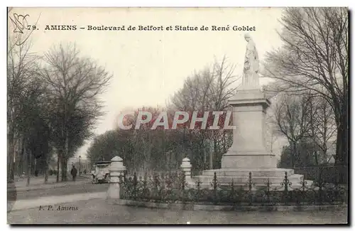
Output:
<svg viewBox="0 0 355 231">
<path fill-rule="evenodd" d="M 220 184 L 216 173 L 212 183 L 204 185 L 200 180 L 194 184 L 185 181 L 182 172 L 162 173 L 148 176 L 121 176 L 120 198 L 155 203 L 195 203 L 212 205 L 344 205 L 348 190 L 337 183 L 313 183 L 303 180 L 293 185 L 285 172 L 280 184 L 267 180 L 256 186 L 253 177 L 245 185 Z"/>
</svg>

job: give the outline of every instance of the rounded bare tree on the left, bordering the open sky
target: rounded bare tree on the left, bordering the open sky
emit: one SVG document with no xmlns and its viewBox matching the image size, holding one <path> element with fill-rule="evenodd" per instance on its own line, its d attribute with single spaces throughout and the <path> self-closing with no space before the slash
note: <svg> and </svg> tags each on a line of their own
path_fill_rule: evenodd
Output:
<svg viewBox="0 0 355 231">
<path fill-rule="evenodd" d="M 111 75 L 94 60 L 83 58 L 72 44 L 54 46 L 45 53 L 43 61 L 40 76 L 47 85 L 48 99 L 53 105 L 51 109 L 53 119 L 56 119 L 54 142 L 58 151 L 58 167 L 60 161 L 62 181 L 66 181 L 67 159 L 74 154 L 76 144 L 80 144 L 80 141 L 73 139 L 88 138 L 87 131 L 102 115 L 102 102 L 98 96 L 105 90 Z M 86 121 L 75 126 L 82 126 L 79 134 L 84 136 L 75 136 L 77 131 L 74 131 L 75 127 L 70 122 L 79 114 Z"/>
</svg>

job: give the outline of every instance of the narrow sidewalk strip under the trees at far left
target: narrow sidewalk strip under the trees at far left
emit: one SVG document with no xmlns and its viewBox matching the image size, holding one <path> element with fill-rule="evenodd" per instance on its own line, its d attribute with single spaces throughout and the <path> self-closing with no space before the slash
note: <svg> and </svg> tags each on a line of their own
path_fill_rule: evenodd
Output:
<svg viewBox="0 0 355 231">
<path fill-rule="evenodd" d="M 56 183 L 56 178 L 48 177 L 48 183 L 44 184 L 44 179 L 43 178 L 31 178 L 30 180 L 30 186 L 26 186 L 26 179 L 23 179 L 21 181 L 17 181 L 15 183 L 8 183 L 7 184 L 7 190 L 8 192 L 21 192 L 21 191 L 26 191 L 26 190 L 39 190 L 39 189 L 48 189 L 48 188 L 61 188 L 65 186 L 72 186 L 72 185 L 77 185 L 77 184 L 82 184 L 82 183 L 88 183 L 90 176 L 82 175 L 77 177 L 77 181 L 69 181 L 66 182 L 58 182 Z"/>
</svg>

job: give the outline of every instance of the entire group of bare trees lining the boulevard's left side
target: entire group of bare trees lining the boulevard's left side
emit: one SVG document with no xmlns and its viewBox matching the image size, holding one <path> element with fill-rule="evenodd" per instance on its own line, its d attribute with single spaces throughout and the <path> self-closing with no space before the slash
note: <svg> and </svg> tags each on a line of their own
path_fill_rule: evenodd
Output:
<svg viewBox="0 0 355 231">
<path fill-rule="evenodd" d="M 59 168 L 67 181 L 67 160 L 92 136 L 101 115 L 97 96 L 111 75 L 74 44 L 38 55 L 31 53 L 31 33 L 13 33 L 11 24 L 8 29 L 8 181 L 26 170 L 29 184 L 36 170 L 46 182 L 53 155 L 57 181 Z"/>
</svg>

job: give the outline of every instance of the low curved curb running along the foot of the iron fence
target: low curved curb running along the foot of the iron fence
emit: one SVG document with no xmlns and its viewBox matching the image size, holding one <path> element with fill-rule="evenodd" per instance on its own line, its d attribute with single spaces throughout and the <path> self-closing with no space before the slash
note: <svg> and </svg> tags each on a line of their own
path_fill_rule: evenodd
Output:
<svg viewBox="0 0 355 231">
<path fill-rule="evenodd" d="M 348 205 L 275 205 L 275 206 L 246 206 L 246 205 L 194 205 L 182 203 L 153 203 L 136 200 L 116 199 L 116 205 L 128 205 L 145 208 L 166 208 L 171 210 L 207 210 L 207 211 L 315 211 L 342 210 Z"/>
</svg>

